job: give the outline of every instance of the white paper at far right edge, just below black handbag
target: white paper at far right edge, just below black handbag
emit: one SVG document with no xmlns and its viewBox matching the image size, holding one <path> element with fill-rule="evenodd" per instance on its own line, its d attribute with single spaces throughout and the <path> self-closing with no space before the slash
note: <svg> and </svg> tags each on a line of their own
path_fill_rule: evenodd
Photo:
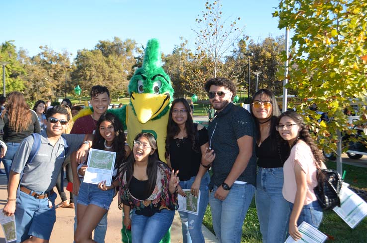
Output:
<svg viewBox="0 0 367 243">
<path fill-rule="evenodd" d="M 367 203 L 343 183 L 340 189 L 340 206 L 334 212 L 352 229 L 367 216 Z"/>
</svg>

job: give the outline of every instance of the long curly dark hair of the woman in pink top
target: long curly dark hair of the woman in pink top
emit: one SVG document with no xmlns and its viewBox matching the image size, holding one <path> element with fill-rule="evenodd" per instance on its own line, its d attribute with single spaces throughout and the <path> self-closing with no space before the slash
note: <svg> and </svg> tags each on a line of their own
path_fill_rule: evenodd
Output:
<svg viewBox="0 0 367 243">
<path fill-rule="evenodd" d="M 306 127 L 306 125 L 304 124 L 304 120 L 302 118 L 301 115 L 299 115 L 297 112 L 295 111 L 286 111 L 283 112 L 280 116 L 279 116 L 279 121 L 282 117 L 288 116 L 290 117 L 295 123 L 298 124 L 298 126 L 301 128 L 301 131 L 298 133 L 298 136 L 300 139 L 302 139 L 308 146 L 310 146 L 311 152 L 313 154 L 313 157 L 315 158 L 315 164 L 316 167 L 321 168 L 321 164 L 322 162 L 325 160 L 324 156 L 322 155 L 322 153 L 320 152 L 319 148 L 317 147 L 317 145 L 315 144 L 315 142 L 313 141 L 308 128 Z M 279 122 L 278 122 L 279 123 Z M 294 146 L 294 145 L 293 145 Z"/>
</svg>

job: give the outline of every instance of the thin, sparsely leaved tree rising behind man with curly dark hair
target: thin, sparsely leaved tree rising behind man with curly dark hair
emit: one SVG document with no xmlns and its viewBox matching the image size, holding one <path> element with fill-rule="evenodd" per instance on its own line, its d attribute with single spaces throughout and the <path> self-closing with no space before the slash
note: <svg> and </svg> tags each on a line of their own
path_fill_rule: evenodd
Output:
<svg viewBox="0 0 367 243">
<path fill-rule="evenodd" d="M 201 17 L 196 18 L 197 30 L 193 31 L 197 35 L 197 52 L 201 53 L 203 50 L 209 60 L 214 65 L 210 70 L 214 77 L 217 76 L 219 70 L 219 63 L 228 54 L 229 49 L 233 43 L 237 42 L 238 37 L 243 33 L 244 27 L 237 27 L 237 22 L 240 18 L 230 21 L 227 25 L 228 19 L 223 19 L 221 11 L 222 5 L 220 0 L 205 3 L 206 11 L 202 11 Z"/>
</svg>

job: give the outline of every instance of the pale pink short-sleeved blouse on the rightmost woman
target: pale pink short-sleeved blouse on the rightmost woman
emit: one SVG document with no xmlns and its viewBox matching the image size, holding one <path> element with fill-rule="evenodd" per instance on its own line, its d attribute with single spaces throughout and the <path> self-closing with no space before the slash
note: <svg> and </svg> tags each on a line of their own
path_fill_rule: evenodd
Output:
<svg viewBox="0 0 367 243">
<path fill-rule="evenodd" d="M 293 146 L 290 151 L 288 159 L 285 161 L 283 166 L 284 171 L 284 185 L 283 185 L 283 196 L 288 202 L 294 203 L 295 195 L 297 192 L 297 183 L 294 173 L 294 164 L 298 163 L 302 170 L 306 174 L 307 181 L 307 193 L 304 205 L 316 201 L 317 198 L 313 192 L 313 188 L 317 186 L 316 179 L 316 165 L 314 157 L 311 152 L 311 148 L 304 142 L 297 143 Z"/>
</svg>

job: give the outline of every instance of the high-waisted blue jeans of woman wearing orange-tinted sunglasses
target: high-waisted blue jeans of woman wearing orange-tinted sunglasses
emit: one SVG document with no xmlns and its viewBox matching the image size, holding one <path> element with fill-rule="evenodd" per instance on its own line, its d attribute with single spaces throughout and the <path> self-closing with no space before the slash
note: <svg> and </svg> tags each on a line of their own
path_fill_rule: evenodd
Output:
<svg viewBox="0 0 367 243">
<path fill-rule="evenodd" d="M 283 197 L 283 183 L 283 168 L 258 167 L 255 203 L 263 243 L 285 242 L 290 208 Z"/>
</svg>

